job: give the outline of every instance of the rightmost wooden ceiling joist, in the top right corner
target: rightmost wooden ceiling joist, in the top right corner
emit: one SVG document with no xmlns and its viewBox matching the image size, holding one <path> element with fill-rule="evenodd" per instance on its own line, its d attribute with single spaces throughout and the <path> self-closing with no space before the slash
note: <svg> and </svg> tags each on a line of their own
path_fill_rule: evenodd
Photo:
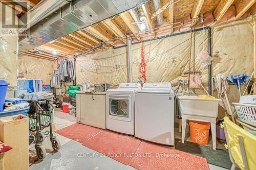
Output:
<svg viewBox="0 0 256 170">
<path fill-rule="evenodd" d="M 250 9 L 250 7 L 255 4 L 256 0 L 241 0 L 237 1 L 234 6 L 236 6 L 237 16 L 236 19 L 239 19 L 241 16 L 244 15 L 246 11 Z"/>
</svg>

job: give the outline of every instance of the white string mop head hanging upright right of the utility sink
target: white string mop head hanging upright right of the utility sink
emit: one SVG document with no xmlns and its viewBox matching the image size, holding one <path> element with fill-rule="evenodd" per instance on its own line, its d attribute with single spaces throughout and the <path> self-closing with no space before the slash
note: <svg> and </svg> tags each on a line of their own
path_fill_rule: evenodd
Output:
<svg viewBox="0 0 256 170">
<path fill-rule="evenodd" d="M 217 74 L 215 76 L 215 89 L 217 89 L 218 94 L 222 94 L 228 90 L 227 77 L 225 74 Z"/>
</svg>

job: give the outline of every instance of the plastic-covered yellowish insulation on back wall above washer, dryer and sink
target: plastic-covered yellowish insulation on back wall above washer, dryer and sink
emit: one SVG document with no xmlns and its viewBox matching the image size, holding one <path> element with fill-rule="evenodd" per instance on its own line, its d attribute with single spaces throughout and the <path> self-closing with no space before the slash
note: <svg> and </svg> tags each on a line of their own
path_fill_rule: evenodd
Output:
<svg viewBox="0 0 256 170">
<path fill-rule="evenodd" d="M 212 27 L 211 33 L 212 57 L 214 57 L 212 76 L 218 73 L 250 75 L 253 69 L 252 17 Z M 207 36 L 207 30 L 196 32 L 196 56 L 201 51 L 208 51 Z M 145 42 L 144 55 L 148 82 L 177 84 L 178 80 L 187 79 L 187 77 L 181 77 L 181 74 L 188 71 L 189 38 L 190 34 L 187 33 L 167 37 L 162 41 L 154 40 L 151 44 L 150 56 L 148 56 L 150 41 Z M 139 43 L 132 45 L 133 82 L 137 82 L 140 76 L 140 46 Z M 81 85 L 83 80 L 90 80 L 92 84 L 110 83 L 116 86 L 128 82 L 126 52 L 126 47 L 121 47 L 78 57 L 77 84 Z M 202 72 L 202 83 L 207 84 L 208 67 L 203 67 L 199 62 L 196 62 L 195 66 L 196 71 Z"/>
</svg>

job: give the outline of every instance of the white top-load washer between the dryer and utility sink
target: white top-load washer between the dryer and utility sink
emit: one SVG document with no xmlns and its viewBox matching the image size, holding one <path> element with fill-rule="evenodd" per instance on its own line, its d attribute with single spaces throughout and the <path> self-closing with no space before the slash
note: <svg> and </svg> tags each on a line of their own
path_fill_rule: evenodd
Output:
<svg viewBox="0 0 256 170">
<path fill-rule="evenodd" d="M 144 83 L 135 94 L 135 137 L 174 145 L 174 98 L 170 83 Z"/>
</svg>

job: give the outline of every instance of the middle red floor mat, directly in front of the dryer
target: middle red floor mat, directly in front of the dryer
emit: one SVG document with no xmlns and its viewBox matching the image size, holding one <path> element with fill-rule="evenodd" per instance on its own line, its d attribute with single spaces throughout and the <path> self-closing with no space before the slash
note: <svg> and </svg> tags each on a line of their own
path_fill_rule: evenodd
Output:
<svg viewBox="0 0 256 170">
<path fill-rule="evenodd" d="M 82 144 L 123 164 L 128 164 L 140 142 L 141 140 L 131 136 L 103 130 Z"/>
</svg>

